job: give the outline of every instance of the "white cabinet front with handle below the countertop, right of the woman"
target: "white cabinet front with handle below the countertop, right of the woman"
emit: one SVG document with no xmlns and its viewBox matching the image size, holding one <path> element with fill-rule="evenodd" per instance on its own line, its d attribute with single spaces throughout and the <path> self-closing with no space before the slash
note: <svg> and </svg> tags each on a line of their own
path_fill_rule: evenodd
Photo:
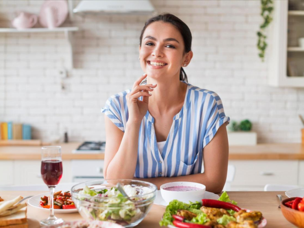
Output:
<svg viewBox="0 0 304 228">
<path fill-rule="evenodd" d="M 263 191 L 266 184 L 297 184 L 298 161 L 229 161 L 236 167 L 232 191 Z"/>
</svg>

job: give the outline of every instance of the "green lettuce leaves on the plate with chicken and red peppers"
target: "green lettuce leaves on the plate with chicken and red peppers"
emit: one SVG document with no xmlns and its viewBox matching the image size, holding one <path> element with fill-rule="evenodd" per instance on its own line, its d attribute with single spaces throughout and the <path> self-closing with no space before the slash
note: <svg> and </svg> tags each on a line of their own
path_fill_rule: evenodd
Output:
<svg viewBox="0 0 304 228">
<path fill-rule="evenodd" d="M 229 199 L 229 196 L 226 192 L 223 192 L 218 200 L 222 201 L 222 202 L 229 202 L 234 205 L 237 205 L 237 202 L 231 201 Z M 191 220 L 184 220 L 184 222 L 194 223 L 194 224 L 205 224 L 205 223 L 209 222 L 210 219 L 208 219 L 207 215 L 203 211 L 200 210 L 201 207 L 202 207 L 202 204 L 201 204 L 201 202 L 198 202 L 198 201 L 195 203 L 189 201 L 189 203 L 186 204 L 186 203 L 180 202 L 178 200 L 172 200 L 169 203 L 169 205 L 166 207 L 166 211 L 163 215 L 163 219 L 159 223 L 161 226 L 163 226 L 163 225 L 167 226 L 169 224 L 173 225 L 174 218 L 172 217 L 172 215 L 176 215 L 178 210 L 187 210 L 187 211 L 195 213 L 197 216 L 192 218 Z M 236 221 L 235 217 L 233 217 L 233 215 L 236 212 L 233 210 L 227 210 L 227 212 L 230 215 L 223 215 L 221 218 L 218 218 L 216 220 L 218 224 L 226 225 L 230 221 Z"/>
</svg>

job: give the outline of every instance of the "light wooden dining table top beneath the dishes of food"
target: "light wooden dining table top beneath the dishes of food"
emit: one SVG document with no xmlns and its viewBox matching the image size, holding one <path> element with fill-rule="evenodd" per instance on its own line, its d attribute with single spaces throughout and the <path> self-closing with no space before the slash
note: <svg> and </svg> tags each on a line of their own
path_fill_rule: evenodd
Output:
<svg viewBox="0 0 304 228">
<path fill-rule="evenodd" d="M 25 197 L 41 193 L 44 192 L 0 192 L 0 196 L 5 200 L 10 200 L 19 195 Z M 237 201 L 238 206 L 241 208 L 261 211 L 263 216 L 267 219 L 267 227 L 295 227 L 284 218 L 281 209 L 278 208 L 279 199 L 277 198 L 277 194 L 282 195 L 283 199 L 286 198 L 284 192 L 228 192 L 230 199 Z M 136 227 L 160 227 L 158 222 L 161 220 L 164 211 L 165 208 L 153 205 L 147 216 Z M 46 211 L 31 206 L 27 207 L 27 217 L 30 228 L 40 227 L 39 220 L 47 218 L 48 215 L 49 213 Z M 79 213 L 56 214 L 56 216 L 66 221 L 82 220 Z"/>
</svg>

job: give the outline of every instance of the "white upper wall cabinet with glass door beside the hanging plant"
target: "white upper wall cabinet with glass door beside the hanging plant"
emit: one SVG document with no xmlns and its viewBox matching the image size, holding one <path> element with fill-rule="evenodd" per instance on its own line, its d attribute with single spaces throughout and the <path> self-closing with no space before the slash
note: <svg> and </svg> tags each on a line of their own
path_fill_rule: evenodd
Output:
<svg viewBox="0 0 304 228">
<path fill-rule="evenodd" d="M 274 1 L 273 21 L 267 39 L 269 50 L 266 51 L 270 63 L 269 84 L 275 87 L 304 87 L 304 48 L 298 47 L 297 41 L 304 30 L 298 18 L 304 18 L 304 12 L 288 11 L 288 2 Z"/>
</svg>

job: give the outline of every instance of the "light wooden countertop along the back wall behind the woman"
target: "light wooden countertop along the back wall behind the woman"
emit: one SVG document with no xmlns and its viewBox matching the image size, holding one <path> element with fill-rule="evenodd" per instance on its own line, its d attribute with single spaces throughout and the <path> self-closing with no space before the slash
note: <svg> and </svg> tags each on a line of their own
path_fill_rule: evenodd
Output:
<svg viewBox="0 0 304 228">
<path fill-rule="evenodd" d="M 104 154 L 72 154 L 80 142 L 59 143 L 63 160 L 104 159 Z M 229 160 L 304 160 L 304 145 L 300 143 L 230 146 Z M 40 160 L 41 146 L 0 146 L 0 160 Z"/>
</svg>

